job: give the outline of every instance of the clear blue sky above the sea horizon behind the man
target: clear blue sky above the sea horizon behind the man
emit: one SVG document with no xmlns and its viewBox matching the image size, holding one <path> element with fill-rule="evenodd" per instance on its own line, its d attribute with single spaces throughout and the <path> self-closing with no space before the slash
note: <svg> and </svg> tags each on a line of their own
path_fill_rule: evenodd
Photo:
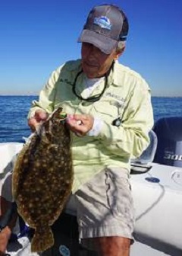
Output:
<svg viewBox="0 0 182 256">
<path fill-rule="evenodd" d="M 120 62 L 146 78 L 153 96 L 182 96 L 181 0 L 2 1 L 0 94 L 39 92 L 55 68 L 80 58 L 77 37 L 103 3 L 119 5 L 130 22 Z"/>
</svg>

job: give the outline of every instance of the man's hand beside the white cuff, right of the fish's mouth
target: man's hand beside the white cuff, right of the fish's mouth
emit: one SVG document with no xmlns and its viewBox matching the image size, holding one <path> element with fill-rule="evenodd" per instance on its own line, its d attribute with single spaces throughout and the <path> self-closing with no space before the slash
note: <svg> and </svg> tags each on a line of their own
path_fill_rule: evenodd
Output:
<svg viewBox="0 0 182 256">
<path fill-rule="evenodd" d="M 88 114 L 67 115 L 67 126 L 77 136 L 85 136 L 93 128 L 94 118 Z"/>
</svg>

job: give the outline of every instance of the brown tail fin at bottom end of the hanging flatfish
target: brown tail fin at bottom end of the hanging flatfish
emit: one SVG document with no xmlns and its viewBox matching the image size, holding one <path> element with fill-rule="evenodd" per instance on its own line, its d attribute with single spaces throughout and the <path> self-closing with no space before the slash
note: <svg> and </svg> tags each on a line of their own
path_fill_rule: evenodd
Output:
<svg viewBox="0 0 182 256">
<path fill-rule="evenodd" d="M 42 252 L 51 248 L 52 245 L 54 245 L 54 238 L 50 227 L 37 228 L 31 241 L 31 251 Z"/>
</svg>

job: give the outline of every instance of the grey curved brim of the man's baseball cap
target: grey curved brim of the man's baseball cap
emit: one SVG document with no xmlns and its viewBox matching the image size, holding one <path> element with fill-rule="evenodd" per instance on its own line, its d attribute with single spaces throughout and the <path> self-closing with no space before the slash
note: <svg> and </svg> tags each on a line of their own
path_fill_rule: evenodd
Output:
<svg viewBox="0 0 182 256">
<path fill-rule="evenodd" d="M 93 30 L 83 30 L 77 41 L 79 43 L 92 43 L 106 54 L 110 54 L 111 51 L 114 50 L 118 45 L 117 40 L 113 40 L 111 37 L 105 37 L 104 35 L 98 34 Z"/>
</svg>

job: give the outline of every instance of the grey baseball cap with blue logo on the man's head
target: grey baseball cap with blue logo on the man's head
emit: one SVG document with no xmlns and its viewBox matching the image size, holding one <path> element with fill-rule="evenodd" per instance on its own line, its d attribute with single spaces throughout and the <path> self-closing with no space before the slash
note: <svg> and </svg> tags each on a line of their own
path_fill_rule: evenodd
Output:
<svg viewBox="0 0 182 256">
<path fill-rule="evenodd" d="M 127 17 L 118 6 L 98 5 L 89 12 L 78 42 L 92 43 L 109 54 L 118 42 L 127 39 L 128 27 Z"/>
</svg>

